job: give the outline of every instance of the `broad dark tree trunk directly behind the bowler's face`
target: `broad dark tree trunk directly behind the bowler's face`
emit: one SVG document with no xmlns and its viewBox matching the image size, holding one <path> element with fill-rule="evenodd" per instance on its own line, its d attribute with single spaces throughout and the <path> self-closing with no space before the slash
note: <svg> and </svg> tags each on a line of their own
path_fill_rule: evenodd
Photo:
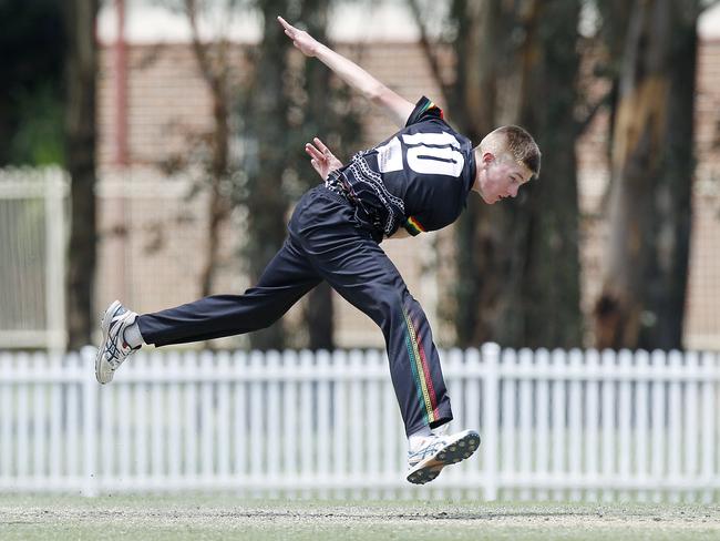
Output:
<svg viewBox="0 0 720 541">
<path fill-rule="evenodd" d="M 504 238 L 514 261 L 506 287 L 506 334 L 515 347 L 577 347 L 582 344 L 577 122 L 578 0 L 536 0 L 524 21 L 520 124 L 543 152 L 541 178 L 531 182 Z M 542 98 L 542 105 L 538 104 Z M 521 306 L 521 309 L 515 309 Z"/>
</svg>

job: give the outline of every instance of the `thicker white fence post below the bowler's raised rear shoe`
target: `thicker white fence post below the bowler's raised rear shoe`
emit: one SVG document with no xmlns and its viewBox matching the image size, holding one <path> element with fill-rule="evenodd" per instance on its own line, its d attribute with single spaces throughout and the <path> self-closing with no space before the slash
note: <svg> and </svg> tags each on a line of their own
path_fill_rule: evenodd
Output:
<svg viewBox="0 0 720 541">
<path fill-rule="evenodd" d="M 92 366 L 95 348 L 85 346 L 80 351 L 80 369 L 83 382 L 83 489 L 82 496 L 97 496 L 97 381 Z"/>
</svg>

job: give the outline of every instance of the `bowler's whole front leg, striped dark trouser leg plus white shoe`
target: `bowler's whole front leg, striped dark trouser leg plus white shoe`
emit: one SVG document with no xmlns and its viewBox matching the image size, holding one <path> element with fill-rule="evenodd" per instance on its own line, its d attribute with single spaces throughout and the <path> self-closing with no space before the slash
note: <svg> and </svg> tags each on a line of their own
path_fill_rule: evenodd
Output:
<svg viewBox="0 0 720 541">
<path fill-rule="evenodd" d="M 353 206 L 322 190 L 309 194 L 308 203 L 290 221 L 290 235 L 318 274 L 382 329 L 410 440 L 408 480 L 431 481 L 445 466 L 470 457 L 480 436 L 430 431 L 449 422 L 452 411 L 425 314 L 370 232 L 359 226 Z"/>
</svg>

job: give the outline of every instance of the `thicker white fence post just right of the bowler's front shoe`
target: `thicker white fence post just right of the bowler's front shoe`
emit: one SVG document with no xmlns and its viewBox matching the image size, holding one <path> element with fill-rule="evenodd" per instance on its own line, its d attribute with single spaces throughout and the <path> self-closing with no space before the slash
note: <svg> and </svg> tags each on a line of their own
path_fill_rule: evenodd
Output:
<svg viewBox="0 0 720 541">
<path fill-rule="evenodd" d="M 482 347 L 483 376 L 483 478 L 485 479 L 485 500 L 497 499 L 497 396 L 500 386 L 500 346 L 485 344 Z"/>
</svg>

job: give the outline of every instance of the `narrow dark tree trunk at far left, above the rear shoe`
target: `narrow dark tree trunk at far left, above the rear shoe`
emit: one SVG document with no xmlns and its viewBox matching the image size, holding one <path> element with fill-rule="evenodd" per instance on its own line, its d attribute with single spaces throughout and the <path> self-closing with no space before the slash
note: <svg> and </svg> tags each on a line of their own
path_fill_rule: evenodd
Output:
<svg viewBox="0 0 720 541">
<path fill-rule="evenodd" d="M 71 178 L 72 224 L 68 264 L 68 346 L 91 343 L 96 326 L 93 287 L 96 261 L 95 73 L 97 0 L 68 0 L 66 167 Z"/>
</svg>

